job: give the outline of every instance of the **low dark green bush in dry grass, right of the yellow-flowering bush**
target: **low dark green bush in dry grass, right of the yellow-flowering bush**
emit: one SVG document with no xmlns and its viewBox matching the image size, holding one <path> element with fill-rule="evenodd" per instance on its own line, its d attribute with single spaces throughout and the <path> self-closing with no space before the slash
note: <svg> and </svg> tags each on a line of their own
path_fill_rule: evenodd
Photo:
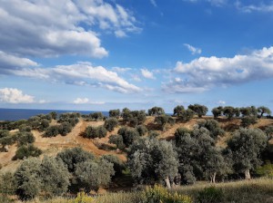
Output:
<svg viewBox="0 0 273 203">
<path fill-rule="evenodd" d="M 218 203 L 224 198 L 222 189 L 208 187 L 198 193 L 197 201 L 200 203 Z"/>
</svg>

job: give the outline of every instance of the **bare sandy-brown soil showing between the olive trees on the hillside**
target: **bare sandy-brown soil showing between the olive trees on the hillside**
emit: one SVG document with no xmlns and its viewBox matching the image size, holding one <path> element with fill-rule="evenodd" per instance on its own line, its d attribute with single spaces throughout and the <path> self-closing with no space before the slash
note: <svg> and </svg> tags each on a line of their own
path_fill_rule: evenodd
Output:
<svg viewBox="0 0 273 203">
<path fill-rule="evenodd" d="M 157 131 L 159 133 L 159 139 L 161 140 L 171 140 L 174 138 L 174 133 L 177 128 L 184 127 L 187 129 L 193 129 L 194 125 L 197 124 L 198 121 L 213 119 L 210 116 L 203 117 L 199 119 L 195 117 L 191 121 L 181 122 L 177 121 L 174 125 L 167 125 L 166 131 L 159 131 L 157 124 L 154 122 L 155 117 L 148 116 L 145 121 L 145 126 L 148 130 Z M 240 128 L 240 119 L 232 119 L 228 121 L 225 117 L 220 117 L 217 120 L 226 133 L 222 137 L 218 137 L 217 145 L 218 146 L 226 146 L 226 141 L 230 138 L 231 133 Z M 51 125 L 56 124 L 56 121 L 52 121 Z M 101 156 L 105 154 L 115 154 L 120 160 L 126 160 L 126 153 L 121 152 L 119 150 L 115 150 L 115 145 L 109 144 L 109 136 L 112 134 L 116 134 L 118 129 L 123 126 L 122 121 L 119 122 L 119 125 L 115 128 L 114 131 L 107 132 L 106 137 L 102 139 L 86 139 L 80 136 L 81 133 L 86 131 L 87 126 L 100 126 L 103 125 L 104 121 L 84 121 L 84 119 L 80 119 L 76 126 L 73 128 L 71 132 L 69 132 L 66 136 L 57 135 L 52 138 L 43 138 L 43 132 L 32 131 L 35 136 L 35 146 L 41 150 L 43 150 L 43 154 L 41 157 L 55 156 L 57 152 L 75 148 L 82 147 L 84 150 L 90 151 L 96 156 Z M 254 125 L 251 125 L 249 128 L 259 128 L 264 130 L 265 127 L 273 125 L 272 119 L 259 119 L 258 122 Z M 11 133 L 15 133 L 15 131 L 11 131 Z M 273 140 L 269 140 L 269 143 L 273 144 Z M 0 171 L 10 171 L 15 170 L 19 163 L 22 160 L 12 160 L 15 156 L 15 151 L 17 147 L 16 144 L 9 146 L 8 152 L 0 152 L 0 160 L 2 169 Z"/>
</svg>

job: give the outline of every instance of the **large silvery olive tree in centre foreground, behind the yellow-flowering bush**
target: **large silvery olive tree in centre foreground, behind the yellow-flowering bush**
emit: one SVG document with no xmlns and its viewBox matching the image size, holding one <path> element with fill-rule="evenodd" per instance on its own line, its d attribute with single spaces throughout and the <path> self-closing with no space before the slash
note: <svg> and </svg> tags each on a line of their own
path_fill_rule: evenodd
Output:
<svg viewBox="0 0 273 203">
<path fill-rule="evenodd" d="M 178 172 L 177 153 L 171 142 L 155 138 L 136 140 L 129 149 L 127 165 L 136 182 L 165 181 L 167 188 Z"/>
</svg>

